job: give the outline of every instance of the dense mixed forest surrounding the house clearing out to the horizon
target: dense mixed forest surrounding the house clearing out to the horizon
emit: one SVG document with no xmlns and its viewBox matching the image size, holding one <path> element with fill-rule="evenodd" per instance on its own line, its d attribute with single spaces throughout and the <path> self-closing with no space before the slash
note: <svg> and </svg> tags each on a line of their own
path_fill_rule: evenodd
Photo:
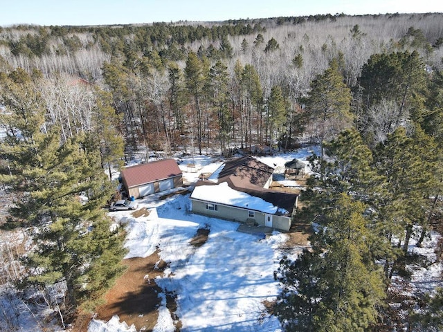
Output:
<svg viewBox="0 0 443 332">
<path fill-rule="evenodd" d="M 284 328 L 443 328 L 441 290 L 392 286 L 433 263 L 411 237 L 442 231 L 442 14 L 3 27 L 0 105 L 0 181 L 16 197 L 2 227 L 35 228 L 38 248 L 20 271 L 3 250 L 0 280 L 38 288 L 62 322 L 123 270 L 124 231 L 101 208 L 136 151 L 317 144 L 298 220 L 320 231 L 276 272 Z M 61 280 L 64 306 L 48 286 Z"/>
</svg>

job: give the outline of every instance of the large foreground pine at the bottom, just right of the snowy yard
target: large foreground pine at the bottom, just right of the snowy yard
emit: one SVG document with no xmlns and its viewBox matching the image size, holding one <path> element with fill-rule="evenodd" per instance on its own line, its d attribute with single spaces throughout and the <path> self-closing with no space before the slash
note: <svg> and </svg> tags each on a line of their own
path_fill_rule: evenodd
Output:
<svg viewBox="0 0 443 332">
<path fill-rule="evenodd" d="M 374 263 L 365 205 L 341 194 L 329 206 L 312 251 L 280 262 L 276 313 L 287 331 L 366 331 L 377 322 L 384 284 Z"/>
</svg>

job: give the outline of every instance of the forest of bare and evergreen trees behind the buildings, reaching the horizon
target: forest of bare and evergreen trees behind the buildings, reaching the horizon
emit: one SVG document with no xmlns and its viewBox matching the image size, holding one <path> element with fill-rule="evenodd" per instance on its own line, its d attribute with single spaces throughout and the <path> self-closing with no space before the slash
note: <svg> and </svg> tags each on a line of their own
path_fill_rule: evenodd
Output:
<svg viewBox="0 0 443 332">
<path fill-rule="evenodd" d="M 299 136 L 318 140 L 303 98 L 333 59 L 352 100 L 373 54 L 416 50 L 424 65 L 442 67 L 440 14 L 303 20 L 3 28 L 0 68 L 38 69 L 48 82 L 81 77 L 109 91 L 130 149 L 170 153 L 195 145 L 201 152 L 216 144 L 228 153 L 295 147 Z M 273 116 L 272 91 L 283 100 L 280 117 Z M 352 107 L 358 112 L 358 102 Z"/>
</svg>

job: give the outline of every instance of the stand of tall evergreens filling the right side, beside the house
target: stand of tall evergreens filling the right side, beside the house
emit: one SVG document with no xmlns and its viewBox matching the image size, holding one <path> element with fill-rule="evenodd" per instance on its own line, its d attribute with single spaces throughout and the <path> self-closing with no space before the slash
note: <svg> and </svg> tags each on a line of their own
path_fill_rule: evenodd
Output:
<svg viewBox="0 0 443 332">
<path fill-rule="evenodd" d="M 441 238 L 431 257 L 411 250 L 443 231 L 443 73 L 415 51 L 375 54 L 351 93 L 338 63 L 305 99 L 323 144 L 297 219 L 316 232 L 280 261 L 275 312 L 287 331 L 440 331 L 442 288 L 408 282 L 443 254 Z"/>
</svg>

